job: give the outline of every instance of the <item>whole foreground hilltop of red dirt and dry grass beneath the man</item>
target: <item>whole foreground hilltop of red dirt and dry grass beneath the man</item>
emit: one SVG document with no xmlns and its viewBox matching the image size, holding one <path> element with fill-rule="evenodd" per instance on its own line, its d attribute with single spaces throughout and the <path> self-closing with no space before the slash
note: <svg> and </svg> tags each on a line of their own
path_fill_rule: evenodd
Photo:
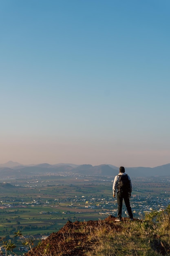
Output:
<svg viewBox="0 0 170 256">
<path fill-rule="evenodd" d="M 159 215 L 157 213 L 158 218 Z M 144 221 L 136 219 L 132 222 L 124 218 L 119 223 L 113 216 L 105 220 L 68 221 L 25 256 L 170 255 L 168 215 L 163 213 L 163 222 L 162 218 L 155 222 L 155 216 L 152 213 Z"/>
</svg>

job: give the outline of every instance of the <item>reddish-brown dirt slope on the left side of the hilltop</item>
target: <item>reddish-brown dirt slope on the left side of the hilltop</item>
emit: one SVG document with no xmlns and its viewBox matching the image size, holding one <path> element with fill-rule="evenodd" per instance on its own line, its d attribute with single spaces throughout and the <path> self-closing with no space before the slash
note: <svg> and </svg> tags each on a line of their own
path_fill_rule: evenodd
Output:
<svg viewBox="0 0 170 256">
<path fill-rule="evenodd" d="M 124 218 L 124 221 L 128 221 L 128 218 Z M 105 220 L 68 221 L 62 229 L 42 240 L 40 246 L 33 248 L 25 256 L 56 256 L 57 254 L 61 256 L 84 256 L 85 252 L 90 251 L 93 243 L 96 242 L 95 238 L 94 241 L 89 242 L 88 234 L 95 232 L 99 227 L 111 228 L 115 231 L 121 229 L 121 225 L 115 222 L 113 216 L 109 216 Z"/>
</svg>

